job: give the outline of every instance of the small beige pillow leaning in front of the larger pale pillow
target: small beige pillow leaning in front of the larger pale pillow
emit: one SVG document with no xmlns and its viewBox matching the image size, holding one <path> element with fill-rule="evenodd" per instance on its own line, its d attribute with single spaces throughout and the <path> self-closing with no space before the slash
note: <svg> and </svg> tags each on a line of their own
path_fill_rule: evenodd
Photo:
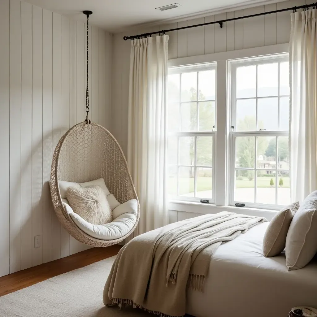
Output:
<svg viewBox="0 0 317 317">
<path fill-rule="evenodd" d="M 288 228 L 298 208 L 298 202 L 290 204 L 270 221 L 263 239 L 264 256 L 277 256 L 285 249 Z"/>
</svg>

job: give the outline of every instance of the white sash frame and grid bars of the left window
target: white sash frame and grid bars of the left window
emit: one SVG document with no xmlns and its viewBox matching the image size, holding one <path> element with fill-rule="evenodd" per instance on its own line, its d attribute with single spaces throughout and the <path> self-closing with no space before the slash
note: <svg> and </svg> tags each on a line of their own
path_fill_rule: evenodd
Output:
<svg viewBox="0 0 317 317">
<path fill-rule="evenodd" d="M 216 84 L 216 90 L 215 90 L 215 100 L 207 100 L 207 101 L 214 101 L 215 102 L 215 128 L 213 131 L 191 131 L 191 132 L 172 132 L 169 133 L 169 137 L 178 137 L 178 148 L 177 148 L 177 168 L 178 168 L 178 178 L 177 178 L 177 193 L 178 195 L 170 195 L 171 200 L 175 201 L 188 201 L 188 202 L 199 202 L 201 199 L 208 199 L 210 204 L 213 204 L 215 202 L 215 165 L 216 165 L 216 135 L 217 135 L 217 63 L 205 63 L 203 65 L 190 65 L 190 66 L 180 66 L 180 67 L 169 67 L 168 68 L 168 74 L 183 74 L 183 73 L 190 73 L 190 72 L 197 72 L 197 88 L 199 87 L 199 81 L 198 81 L 198 72 L 199 71 L 204 71 L 204 70 L 215 70 L 215 84 Z M 192 101 L 181 101 L 181 77 L 180 77 L 180 96 L 179 96 L 179 106 L 182 103 L 187 103 L 187 102 L 192 102 Z M 198 94 L 199 94 L 199 89 L 197 89 L 197 98 L 196 98 L 196 107 L 197 107 L 197 127 L 199 124 L 199 107 L 198 107 Z M 205 100 L 202 100 L 205 101 Z M 180 126 L 181 126 L 181 111 L 179 112 L 180 115 Z M 180 137 L 194 137 L 195 138 L 195 159 L 194 159 L 194 165 L 180 165 L 179 164 L 179 138 Z M 197 165 L 197 137 L 199 136 L 210 136 L 212 137 L 212 166 L 207 166 L 207 165 Z M 173 166 L 173 165 L 169 165 Z M 179 168 L 180 167 L 192 167 L 194 168 L 194 197 L 188 197 L 188 196 L 181 196 L 179 195 Z M 197 194 L 197 168 L 212 168 L 212 197 L 209 198 L 204 198 L 204 197 L 195 197 Z"/>
</svg>

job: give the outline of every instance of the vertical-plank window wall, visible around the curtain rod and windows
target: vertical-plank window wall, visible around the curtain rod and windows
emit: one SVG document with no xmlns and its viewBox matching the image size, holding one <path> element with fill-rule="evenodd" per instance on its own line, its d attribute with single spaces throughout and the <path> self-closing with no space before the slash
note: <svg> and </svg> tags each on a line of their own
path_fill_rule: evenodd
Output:
<svg viewBox="0 0 317 317">
<path fill-rule="evenodd" d="M 307 3 L 311 3 L 311 1 L 306 0 L 306 4 Z M 131 41 L 124 41 L 123 36 L 219 21 L 303 4 L 305 4 L 305 0 L 291 0 L 115 34 L 113 39 L 112 69 L 112 132 L 115 138 L 119 141 L 123 152 L 125 154 L 127 153 L 129 60 L 131 48 Z M 166 33 L 170 36 L 168 55 L 169 59 L 174 59 L 179 57 L 288 43 L 290 29 L 290 11 L 285 11 L 266 16 L 258 16 L 223 23 L 222 29 L 219 24 L 213 24 L 192 29 L 173 31 Z M 175 210 L 170 210 L 169 212 L 170 222 L 180 221 L 197 215 L 198 214 Z"/>
</svg>

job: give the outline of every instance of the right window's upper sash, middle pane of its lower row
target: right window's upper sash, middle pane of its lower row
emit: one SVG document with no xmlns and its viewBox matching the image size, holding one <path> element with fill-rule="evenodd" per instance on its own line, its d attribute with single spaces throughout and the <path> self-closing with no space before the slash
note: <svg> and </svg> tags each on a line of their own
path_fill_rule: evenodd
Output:
<svg viewBox="0 0 317 317">
<path fill-rule="evenodd" d="M 258 99 L 258 129 L 278 129 L 278 98 Z"/>
</svg>

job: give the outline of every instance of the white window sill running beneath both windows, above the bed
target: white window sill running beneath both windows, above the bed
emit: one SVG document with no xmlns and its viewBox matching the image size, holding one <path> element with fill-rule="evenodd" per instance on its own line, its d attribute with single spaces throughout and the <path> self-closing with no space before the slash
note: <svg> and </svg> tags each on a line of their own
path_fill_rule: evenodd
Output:
<svg viewBox="0 0 317 317">
<path fill-rule="evenodd" d="M 183 200 L 172 200 L 169 202 L 169 210 L 193 212 L 198 214 L 215 214 L 220 211 L 236 212 L 237 214 L 265 217 L 271 220 L 278 210 L 236 207 L 236 206 L 216 206 L 215 204 L 203 204 Z"/>
</svg>

